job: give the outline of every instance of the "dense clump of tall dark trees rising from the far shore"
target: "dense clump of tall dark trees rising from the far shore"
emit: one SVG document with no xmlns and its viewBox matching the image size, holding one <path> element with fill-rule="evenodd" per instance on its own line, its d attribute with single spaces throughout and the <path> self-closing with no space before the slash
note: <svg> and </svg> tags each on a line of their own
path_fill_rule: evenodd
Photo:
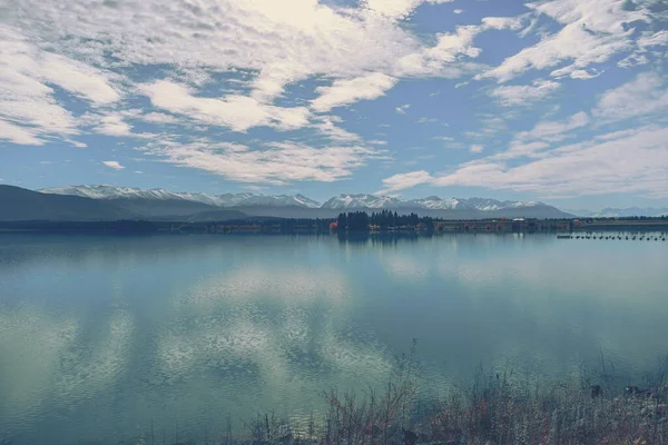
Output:
<svg viewBox="0 0 668 445">
<path fill-rule="evenodd" d="M 434 218 L 411 212 L 410 215 L 399 215 L 396 211 L 381 210 L 372 212 L 348 211 L 342 212 L 336 218 L 337 230 L 340 231 L 366 231 L 372 228 L 414 228 L 423 226 L 426 230 L 434 229 Z"/>
</svg>

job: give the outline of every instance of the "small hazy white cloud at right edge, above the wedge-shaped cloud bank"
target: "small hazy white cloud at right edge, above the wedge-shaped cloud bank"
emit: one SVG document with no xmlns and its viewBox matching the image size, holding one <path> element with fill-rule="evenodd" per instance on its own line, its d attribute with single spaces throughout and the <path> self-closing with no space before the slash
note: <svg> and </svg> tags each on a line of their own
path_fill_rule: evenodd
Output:
<svg viewBox="0 0 668 445">
<path fill-rule="evenodd" d="M 593 116 L 603 121 L 619 121 L 668 110 L 668 88 L 655 72 L 642 72 L 636 79 L 601 95 Z"/>
</svg>

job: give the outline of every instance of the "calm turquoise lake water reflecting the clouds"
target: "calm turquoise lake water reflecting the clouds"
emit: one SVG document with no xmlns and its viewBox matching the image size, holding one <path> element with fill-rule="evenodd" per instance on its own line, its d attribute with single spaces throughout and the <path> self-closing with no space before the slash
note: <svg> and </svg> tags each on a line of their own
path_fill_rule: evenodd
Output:
<svg viewBox="0 0 668 445">
<path fill-rule="evenodd" d="M 424 396 L 668 352 L 668 241 L 0 236 L 0 441 L 161 441 L 318 413 L 419 340 Z M 181 436 L 183 437 L 183 436 Z M 161 442 L 160 442 L 161 443 Z"/>
</svg>

